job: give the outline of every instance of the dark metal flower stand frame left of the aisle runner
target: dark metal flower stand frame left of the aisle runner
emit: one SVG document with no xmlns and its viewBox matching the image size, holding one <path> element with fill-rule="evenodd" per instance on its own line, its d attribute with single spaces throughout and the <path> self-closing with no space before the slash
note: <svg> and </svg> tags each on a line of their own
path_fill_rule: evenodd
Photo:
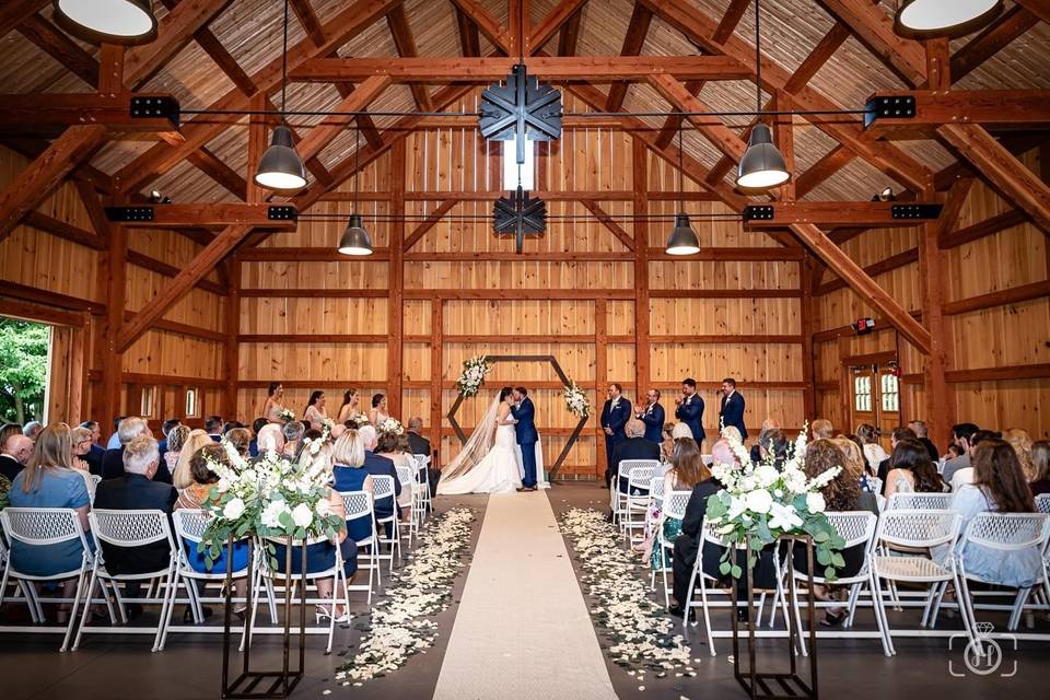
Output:
<svg viewBox="0 0 1050 700">
<path fill-rule="evenodd" d="M 247 608 L 245 610 L 244 634 L 245 645 L 241 660 L 241 672 L 232 680 L 230 678 L 230 648 L 233 641 L 231 634 L 232 609 L 233 609 L 233 546 L 234 540 L 231 537 L 226 542 L 226 599 L 223 610 L 222 629 L 222 697 L 232 700 L 264 700 L 271 698 L 288 698 L 295 689 L 299 681 L 303 679 L 303 668 L 306 660 L 306 547 L 300 547 L 302 560 L 300 562 L 300 600 L 299 600 L 299 664 L 293 668 L 291 666 L 292 652 L 292 538 L 289 537 L 284 544 L 284 630 L 281 634 L 281 656 L 282 664 L 280 669 L 273 670 L 254 670 L 252 669 L 252 600 L 254 599 L 255 586 L 255 547 L 248 549 L 248 576 L 247 576 Z"/>
</svg>

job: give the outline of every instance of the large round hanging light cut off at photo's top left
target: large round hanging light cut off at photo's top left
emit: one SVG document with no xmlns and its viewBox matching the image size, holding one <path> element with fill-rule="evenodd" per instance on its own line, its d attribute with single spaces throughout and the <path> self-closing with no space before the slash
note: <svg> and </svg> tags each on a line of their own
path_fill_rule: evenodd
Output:
<svg viewBox="0 0 1050 700">
<path fill-rule="evenodd" d="M 152 0 L 52 0 L 55 22 L 92 44 L 147 44 L 156 38 Z"/>
</svg>

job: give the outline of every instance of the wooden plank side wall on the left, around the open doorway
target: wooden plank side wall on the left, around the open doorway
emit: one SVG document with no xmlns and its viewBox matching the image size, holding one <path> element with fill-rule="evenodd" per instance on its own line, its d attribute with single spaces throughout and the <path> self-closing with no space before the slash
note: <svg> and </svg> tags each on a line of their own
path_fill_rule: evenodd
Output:
<svg viewBox="0 0 1050 700">
<path fill-rule="evenodd" d="M 26 167 L 28 162 L 11 150 L 0 148 L 0 188 Z M 72 183 L 63 184 L 37 210 L 59 222 L 69 224 L 86 234 L 98 235 L 83 200 Z M 50 418 L 81 421 L 96 416 L 101 402 L 94 396 L 98 386 L 102 362 L 97 354 L 101 319 L 105 314 L 104 287 L 98 283 L 106 254 L 92 245 L 80 244 L 70 237 L 60 237 L 35 225 L 20 225 L 10 236 L 0 242 L 0 313 L 35 316 L 49 320 L 50 312 L 61 310 L 79 315 L 86 335 L 70 338 L 65 332 L 55 335 Z M 186 265 L 199 250 L 199 244 L 163 230 L 129 230 L 128 249 L 132 258 L 127 266 L 126 312 L 136 312 L 149 304 L 154 294 L 168 279 L 167 276 L 142 266 L 145 258 L 171 267 Z M 136 257 L 137 256 L 137 257 Z M 139 260 L 136 262 L 135 260 Z M 218 277 L 209 278 L 212 284 Z M 13 290 L 18 290 L 16 292 Z M 185 324 L 186 332 L 171 329 L 148 331 L 136 342 L 122 360 L 121 412 L 138 413 L 143 387 L 158 387 L 159 398 L 152 422 L 158 425 L 164 417 L 182 416 L 185 388 L 200 392 L 201 408 L 220 411 L 222 343 L 214 337 L 205 337 L 210 331 L 222 330 L 223 298 L 214 291 L 192 290 L 186 299 L 164 315 L 165 322 Z M 61 325 L 62 317 L 51 319 Z M 189 335 L 199 332 L 201 337 Z M 214 334 L 211 334 L 214 335 Z M 86 341 L 91 338 L 91 341 Z M 88 387 L 79 406 L 71 410 L 70 387 L 57 381 L 56 369 L 68 362 L 85 358 Z M 190 422 L 199 422 L 191 420 Z"/>
</svg>

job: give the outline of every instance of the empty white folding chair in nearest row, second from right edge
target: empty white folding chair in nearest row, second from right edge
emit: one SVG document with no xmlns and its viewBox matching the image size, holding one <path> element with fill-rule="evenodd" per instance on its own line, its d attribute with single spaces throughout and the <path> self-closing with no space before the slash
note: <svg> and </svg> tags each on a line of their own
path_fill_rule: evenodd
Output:
<svg viewBox="0 0 1050 700">
<path fill-rule="evenodd" d="M 872 581 L 875 585 L 875 612 L 882 617 L 884 640 L 888 652 L 896 654 L 892 631 L 886 618 L 882 595 L 882 582 L 924 583 L 929 586 L 922 614 L 921 627 L 936 621 L 935 607 L 940 606 L 948 584 L 960 591 L 955 560 L 955 544 L 959 538 L 962 516 L 953 511 L 887 510 L 878 520 L 875 540 L 879 551 L 872 557 Z M 937 562 L 925 552 L 932 547 L 945 550 L 944 561 Z M 889 549 L 897 553 L 889 553 Z M 973 628 L 965 606 L 960 617 L 967 635 L 973 640 Z"/>
</svg>

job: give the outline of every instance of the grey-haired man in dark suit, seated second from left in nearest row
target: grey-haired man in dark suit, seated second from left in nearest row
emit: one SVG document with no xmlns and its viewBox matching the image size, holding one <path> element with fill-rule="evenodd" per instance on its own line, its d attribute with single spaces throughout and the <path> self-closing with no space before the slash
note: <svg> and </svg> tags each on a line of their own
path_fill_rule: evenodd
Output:
<svg viewBox="0 0 1050 700">
<path fill-rule="evenodd" d="M 128 421 L 125 420 L 124 424 Z M 185 446 L 183 447 L 185 450 Z M 95 491 L 95 508 L 117 511 L 163 511 L 171 513 L 178 493 L 170 483 L 154 481 L 160 468 L 160 452 L 152 435 L 141 434 L 124 445 L 124 476 L 106 479 Z M 116 547 L 103 542 L 103 560 L 112 574 L 149 573 L 167 567 L 171 549 L 166 541 L 141 547 Z M 126 584 L 136 596 L 137 582 Z"/>
</svg>

